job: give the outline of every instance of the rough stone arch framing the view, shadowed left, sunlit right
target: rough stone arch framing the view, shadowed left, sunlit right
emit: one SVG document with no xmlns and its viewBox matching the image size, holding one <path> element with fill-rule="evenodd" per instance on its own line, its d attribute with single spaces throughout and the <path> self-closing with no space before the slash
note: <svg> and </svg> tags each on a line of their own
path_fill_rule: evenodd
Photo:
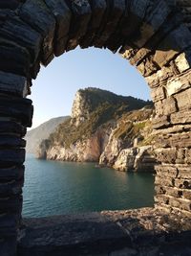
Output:
<svg viewBox="0 0 191 256">
<path fill-rule="evenodd" d="M 16 246 L 22 211 L 30 94 L 40 63 L 95 46 L 135 65 L 152 90 L 159 134 L 155 206 L 190 217 L 191 32 L 189 1 L 2 0 L 0 3 L 0 241 Z M 181 13 L 180 13 L 181 11 Z M 0 249 L 1 251 L 1 249 Z M 7 254 L 3 254 L 7 255 Z"/>
</svg>

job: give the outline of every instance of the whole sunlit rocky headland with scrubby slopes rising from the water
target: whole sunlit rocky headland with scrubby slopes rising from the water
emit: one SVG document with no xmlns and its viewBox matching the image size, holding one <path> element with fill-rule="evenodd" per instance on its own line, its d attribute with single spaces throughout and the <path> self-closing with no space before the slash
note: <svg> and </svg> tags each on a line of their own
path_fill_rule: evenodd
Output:
<svg viewBox="0 0 191 256">
<path fill-rule="evenodd" d="M 152 115 L 150 102 L 95 88 L 79 90 L 71 119 L 41 143 L 38 157 L 99 162 L 120 171 L 150 170 L 155 162 Z"/>
</svg>

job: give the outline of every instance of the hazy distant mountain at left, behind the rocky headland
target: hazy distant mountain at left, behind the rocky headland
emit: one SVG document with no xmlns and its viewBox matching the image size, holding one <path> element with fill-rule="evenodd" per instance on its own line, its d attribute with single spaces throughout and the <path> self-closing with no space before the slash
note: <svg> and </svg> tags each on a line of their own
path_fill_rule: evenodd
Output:
<svg viewBox="0 0 191 256">
<path fill-rule="evenodd" d="M 27 140 L 26 151 L 28 153 L 35 153 L 42 142 L 49 138 L 50 134 L 58 127 L 58 125 L 62 124 L 64 121 L 69 119 L 69 116 L 61 116 L 53 118 L 37 128 L 33 128 L 27 132 L 25 139 Z"/>
</svg>

